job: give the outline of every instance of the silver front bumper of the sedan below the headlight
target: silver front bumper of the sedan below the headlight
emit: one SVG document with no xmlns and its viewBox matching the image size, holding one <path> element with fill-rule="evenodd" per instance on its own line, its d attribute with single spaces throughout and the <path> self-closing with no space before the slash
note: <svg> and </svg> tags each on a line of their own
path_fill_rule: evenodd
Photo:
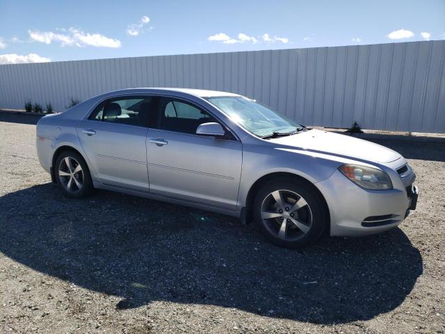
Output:
<svg viewBox="0 0 445 334">
<path fill-rule="evenodd" d="M 415 175 L 409 182 L 414 182 Z M 350 182 L 337 170 L 327 180 L 317 182 L 330 210 L 330 235 L 353 237 L 375 234 L 399 225 L 416 208 L 419 190 L 400 178 L 394 189 L 371 191 Z M 408 191 L 410 188 L 410 191 Z"/>
</svg>

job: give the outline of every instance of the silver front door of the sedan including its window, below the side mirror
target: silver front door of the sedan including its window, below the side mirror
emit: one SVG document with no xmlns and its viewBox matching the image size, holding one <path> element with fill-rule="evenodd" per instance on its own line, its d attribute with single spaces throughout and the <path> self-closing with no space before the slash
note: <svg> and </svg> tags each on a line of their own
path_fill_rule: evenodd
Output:
<svg viewBox="0 0 445 334">
<path fill-rule="evenodd" d="M 150 193 L 236 209 L 241 142 L 229 132 L 197 135 L 198 125 L 218 120 L 191 102 L 160 97 L 157 105 L 156 129 L 147 134 Z"/>
</svg>

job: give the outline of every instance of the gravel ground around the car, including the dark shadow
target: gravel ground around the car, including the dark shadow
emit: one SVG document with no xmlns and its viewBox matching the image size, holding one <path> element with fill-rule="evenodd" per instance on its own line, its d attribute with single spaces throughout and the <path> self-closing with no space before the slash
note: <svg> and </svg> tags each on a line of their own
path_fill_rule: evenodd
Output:
<svg viewBox="0 0 445 334">
<path fill-rule="evenodd" d="M 8 116 L 0 136 L 0 333 L 445 331 L 445 144 L 380 141 L 421 190 L 400 228 L 286 250 L 227 216 L 64 198 L 34 125 Z"/>
</svg>

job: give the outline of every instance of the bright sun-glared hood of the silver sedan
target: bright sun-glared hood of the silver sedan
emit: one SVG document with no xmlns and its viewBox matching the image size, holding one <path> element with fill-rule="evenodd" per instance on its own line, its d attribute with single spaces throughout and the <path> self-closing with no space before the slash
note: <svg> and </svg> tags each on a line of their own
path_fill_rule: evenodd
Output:
<svg viewBox="0 0 445 334">
<path fill-rule="evenodd" d="M 270 141 L 302 150 L 381 163 L 388 163 L 401 158 L 401 154 L 385 148 L 385 146 L 344 134 L 335 134 L 317 129 L 300 132 L 292 136 L 272 138 Z"/>
</svg>

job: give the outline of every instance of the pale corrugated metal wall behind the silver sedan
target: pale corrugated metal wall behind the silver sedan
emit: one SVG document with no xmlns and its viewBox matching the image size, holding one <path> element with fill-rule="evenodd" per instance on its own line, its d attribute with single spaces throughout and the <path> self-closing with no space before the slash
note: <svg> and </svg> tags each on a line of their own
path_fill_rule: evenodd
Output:
<svg viewBox="0 0 445 334">
<path fill-rule="evenodd" d="M 120 88 L 225 90 L 306 125 L 445 132 L 445 40 L 0 65 L 0 108 Z"/>
</svg>

